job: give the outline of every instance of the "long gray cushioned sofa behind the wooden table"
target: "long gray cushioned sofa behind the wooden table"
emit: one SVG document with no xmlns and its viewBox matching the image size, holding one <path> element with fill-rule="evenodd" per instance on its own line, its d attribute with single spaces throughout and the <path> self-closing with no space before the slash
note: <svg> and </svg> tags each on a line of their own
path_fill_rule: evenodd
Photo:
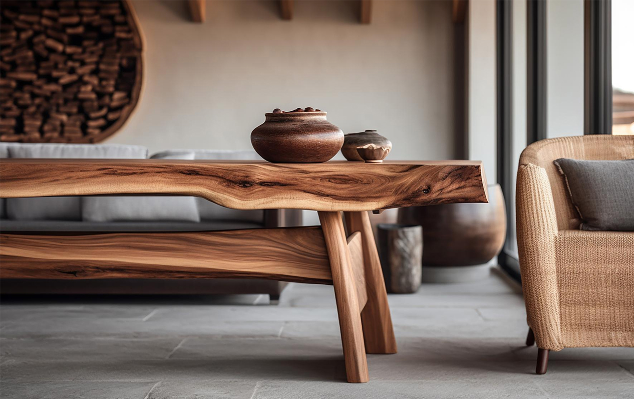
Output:
<svg viewBox="0 0 634 399">
<path fill-rule="evenodd" d="M 148 156 L 148 149 L 143 146 L 22 143 L 0 143 L 1 158 L 261 159 L 252 150 L 172 149 Z M 0 230 L 13 234 L 218 231 L 301 224 L 301 210 L 233 210 L 193 197 L 94 196 L 0 200 Z M 285 283 L 278 281 L 244 279 L 0 279 L 3 294 L 259 293 L 268 294 L 271 300 L 276 300 L 284 286 Z"/>
</svg>

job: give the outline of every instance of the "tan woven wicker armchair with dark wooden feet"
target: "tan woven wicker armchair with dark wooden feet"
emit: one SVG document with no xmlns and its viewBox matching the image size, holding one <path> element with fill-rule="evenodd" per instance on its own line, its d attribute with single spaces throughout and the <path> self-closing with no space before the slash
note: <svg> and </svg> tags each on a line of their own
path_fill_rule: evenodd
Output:
<svg viewBox="0 0 634 399">
<path fill-rule="evenodd" d="M 579 230 L 557 158 L 634 158 L 634 136 L 561 137 L 522 152 L 517 243 L 537 374 L 546 372 L 550 350 L 634 346 L 634 232 Z"/>
</svg>

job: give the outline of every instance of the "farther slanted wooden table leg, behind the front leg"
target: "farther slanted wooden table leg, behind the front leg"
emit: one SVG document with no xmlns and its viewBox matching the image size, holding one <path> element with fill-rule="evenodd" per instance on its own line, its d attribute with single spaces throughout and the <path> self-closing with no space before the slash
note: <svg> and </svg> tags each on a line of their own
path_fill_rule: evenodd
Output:
<svg viewBox="0 0 634 399">
<path fill-rule="evenodd" d="M 396 353 L 396 338 L 377 244 L 370 225 L 370 215 L 368 212 L 345 212 L 344 215 L 348 231 L 360 231 L 363 242 L 363 263 L 368 291 L 368 302 L 361 312 L 365 350 L 367 353 Z"/>
</svg>

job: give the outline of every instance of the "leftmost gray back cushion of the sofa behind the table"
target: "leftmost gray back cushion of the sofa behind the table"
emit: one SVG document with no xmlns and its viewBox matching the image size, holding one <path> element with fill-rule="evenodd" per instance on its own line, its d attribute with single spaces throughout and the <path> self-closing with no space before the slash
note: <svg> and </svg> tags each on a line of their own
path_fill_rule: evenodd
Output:
<svg viewBox="0 0 634 399">
<path fill-rule="evenodd" d="M 121 144 L 19 144 L 7 146 L 8 158 L 144 159 L 148 149 Z M 9 198 L 8 219 L 81 220 L 81 197 Z"/>
</svg>

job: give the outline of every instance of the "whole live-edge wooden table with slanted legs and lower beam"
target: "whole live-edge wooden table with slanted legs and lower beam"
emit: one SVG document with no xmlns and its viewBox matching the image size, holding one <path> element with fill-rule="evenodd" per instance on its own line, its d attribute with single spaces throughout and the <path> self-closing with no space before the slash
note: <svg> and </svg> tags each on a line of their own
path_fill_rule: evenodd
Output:
<svg viewBox="0 0 634 399">
<path fill-rule="evenodd" d="M 8 159 L 0 196 L 199 196 L 227 208 L 316 210 L 321 227 L 209 232 L 1 234 L 3 278 L 245 277 L 333 284 L 347 379 L 366 353 L 396 353 L 367 211 L 487 202 L 482 163 L 280 164 L 190 160 Z M 341 213 L 347 225 L 344 230 Z"/>
</svg>

